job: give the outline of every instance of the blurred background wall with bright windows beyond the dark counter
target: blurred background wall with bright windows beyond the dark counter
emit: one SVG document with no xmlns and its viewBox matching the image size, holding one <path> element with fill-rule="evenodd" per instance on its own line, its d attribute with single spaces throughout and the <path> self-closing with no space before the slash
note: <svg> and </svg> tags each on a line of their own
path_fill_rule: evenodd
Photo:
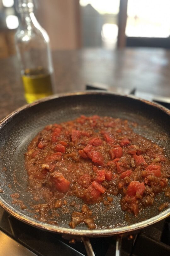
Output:
<svg viewBox="0 0 170 256">
<path fill-rule="evenodd" d="M 0 58 L 15 54 L 17 0 L 0 0 Z M 170 48 L 170 0 L 35 0 L 52 50 Z"/>
</svg>

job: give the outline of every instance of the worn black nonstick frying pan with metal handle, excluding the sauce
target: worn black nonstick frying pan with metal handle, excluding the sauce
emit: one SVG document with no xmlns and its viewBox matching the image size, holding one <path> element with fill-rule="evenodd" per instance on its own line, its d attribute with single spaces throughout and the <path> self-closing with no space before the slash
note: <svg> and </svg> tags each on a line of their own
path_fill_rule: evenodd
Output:
<svg viewBox="0 0 170 256">
<path fill-rule="evenodd" d="M 134 96 L 111 94 L 107 92 L 79 92 L 48 97 L 30 105 L 21 107 L 0 122 L 0 205 L 11 215 L 37 228 L 70 236 L 81 236 L 88 247 L 88 255 L 94 255 L 87 237 L 101 237 L 132 233 L 148 225 L 158 222 L 170 215 L 170 208 L 158 211 L 158 206 L 166 201 L 164 194 L 156 197 L 152 207 L 146 207 L 137 217 L 121 210 L 120 197 L 114 197 L 112 207 L 106 211 L 101 204 L 90 205 L 95 223 L 102 229 L 88 230 L 85 224 L 71 229 L 68 223 L 74 207 L 69 207 L 69 213 L 61 214 L 58 225 L 43 223 L 34 218 L 31 202 L 35 204 L 31 193 L 27 192 L 27 173 L 24 168 L 24 153 L 36 134 L 45 125 L 61 123 L 75 119 L 80 115 L 112 116 L 137 122 L 134 131 L 158 143 L 164 148 L 170 159 L 170 111 L 160 105 L 138 99 Z M 5 171 L 6 170 L 6 171 Z M 21 210 L 19 205 L 12 204 L 10 194 L 18 192 L 20 199 L 28 207 Z M 79 198 L 76 203 L 82 205 Z M 73 198 L 68 199 L 73 200 Z M 59 209 L 59 213 L 60 213 Z M 117 247 L 119 247 L 117 240 Z M 91 254 L 90 254 L 91 253 Z M 119 252 L 117 251 L 117 255 Z"/>
</svg>

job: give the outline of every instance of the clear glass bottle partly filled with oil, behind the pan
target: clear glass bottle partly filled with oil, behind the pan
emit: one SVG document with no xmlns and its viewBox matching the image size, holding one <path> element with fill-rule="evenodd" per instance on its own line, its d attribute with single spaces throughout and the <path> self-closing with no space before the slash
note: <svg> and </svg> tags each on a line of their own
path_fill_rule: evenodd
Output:
<svg viewBox="0 0 170 256">
<path fill-rule="evenodd" d="M 18 0 L 20 14 L 15 34 L 17 56 L 28 103 L 53 94 L 53 65 L 47 32 L 38 23 L 33 0 Z"/>
</svg>

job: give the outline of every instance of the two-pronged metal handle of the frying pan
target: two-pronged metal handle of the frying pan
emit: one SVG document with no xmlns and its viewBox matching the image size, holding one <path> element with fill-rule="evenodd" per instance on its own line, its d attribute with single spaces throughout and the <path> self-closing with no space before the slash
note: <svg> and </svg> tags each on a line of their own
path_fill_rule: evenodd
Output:
<svg viewBox="0 0 170 256">
<path fill-rule="evenodd" d="M 88 256 L 95 256 L 89 238 L 88 237 L 82 237 L 82 241 L 84 243 L 84 247 L 86 248 L 87 255 Z M 121 243 L 122 243 L 122 237 L 117 236 L 115 256 L 121 256 Z"/>
</svg>

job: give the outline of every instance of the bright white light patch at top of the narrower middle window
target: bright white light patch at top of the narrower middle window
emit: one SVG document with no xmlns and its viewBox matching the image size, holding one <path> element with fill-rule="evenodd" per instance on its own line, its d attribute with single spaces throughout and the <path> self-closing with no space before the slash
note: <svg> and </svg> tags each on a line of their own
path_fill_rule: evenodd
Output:
<svg viewBox="0 0 170 256">
<path fill-rule="evenodd" d="M 80 0 L 79 3 L 81 6 L 91 4 L 91 6 L 100 14 L 118 14 L 120 0 Z"/>
</svg>

